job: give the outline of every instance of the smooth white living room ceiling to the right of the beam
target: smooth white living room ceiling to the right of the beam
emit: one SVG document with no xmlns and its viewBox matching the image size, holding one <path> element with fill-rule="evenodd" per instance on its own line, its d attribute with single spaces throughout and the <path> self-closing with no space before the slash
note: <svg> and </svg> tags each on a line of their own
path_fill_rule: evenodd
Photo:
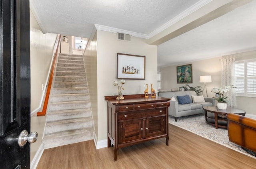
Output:
<svg viewBox="0 0 256 169">
<path fill-rule="evenodd" d="M 256 50 L 256 0 L 158 45 L 158 66 L 250 50 Z"/>
</svg>

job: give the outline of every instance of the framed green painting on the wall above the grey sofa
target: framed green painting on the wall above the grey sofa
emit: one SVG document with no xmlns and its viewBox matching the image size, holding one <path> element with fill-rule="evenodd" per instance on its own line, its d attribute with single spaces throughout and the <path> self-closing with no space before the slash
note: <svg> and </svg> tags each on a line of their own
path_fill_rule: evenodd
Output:
<svg viewBox="0 0 256 169">
<path fill-rule="evenodd" d="M 177 66 L 177 83 L 193 83 L 192 64 Z"/>
</svg>

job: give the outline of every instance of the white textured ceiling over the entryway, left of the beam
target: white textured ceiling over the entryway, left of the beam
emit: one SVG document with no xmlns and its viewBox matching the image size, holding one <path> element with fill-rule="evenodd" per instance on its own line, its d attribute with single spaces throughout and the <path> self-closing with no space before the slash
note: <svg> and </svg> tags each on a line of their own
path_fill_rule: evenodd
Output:
<svg viewBox="0 0 256 169">
<path fill-rule="evenodd" d="M 32 0 L 46 32 L 89 38 L 94 24 L 149 34 L 199 0 Z"/>
</svg>

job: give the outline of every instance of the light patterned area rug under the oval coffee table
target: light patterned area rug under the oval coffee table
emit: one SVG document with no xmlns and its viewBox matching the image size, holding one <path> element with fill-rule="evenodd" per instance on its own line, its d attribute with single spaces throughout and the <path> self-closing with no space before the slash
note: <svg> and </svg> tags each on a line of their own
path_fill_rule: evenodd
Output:
<svg viewBox="0 0 256 169">
<path fill-rule="evenodd" d="M 244 153 L 250 157 L 254 157 L 253 155 L 247 153 L 241 146 L 229 141 L 227 129 L 216 129 L 214 126 L 207 124 L 204 114 L 179 117 L 177 122 L 175 122 L 173 116 L 169 116 L 169 123 L 209 140 L 215 141 L 216 143 L 220 143 L 221 145 L 239 151 L 240 153 Z"/>
</svg>

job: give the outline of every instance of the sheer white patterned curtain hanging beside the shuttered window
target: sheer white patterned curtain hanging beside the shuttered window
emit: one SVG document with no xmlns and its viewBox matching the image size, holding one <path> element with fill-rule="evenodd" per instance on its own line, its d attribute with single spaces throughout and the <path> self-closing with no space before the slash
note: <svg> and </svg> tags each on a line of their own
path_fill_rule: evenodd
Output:
<svg viewBox="0 0 256 169">
<path fill-rule="evenodd" d="M 225 86 L 236 86 L 235 79 L 235 68 L 234 68 L 235 57 L 233 56 L 222 56 L 221 59 L 221 87 Z M 230 92 L 227 92 L 227 100 L 229 106 L 236 106 L 236 89 L 231 88 Z"/>
</svg>

